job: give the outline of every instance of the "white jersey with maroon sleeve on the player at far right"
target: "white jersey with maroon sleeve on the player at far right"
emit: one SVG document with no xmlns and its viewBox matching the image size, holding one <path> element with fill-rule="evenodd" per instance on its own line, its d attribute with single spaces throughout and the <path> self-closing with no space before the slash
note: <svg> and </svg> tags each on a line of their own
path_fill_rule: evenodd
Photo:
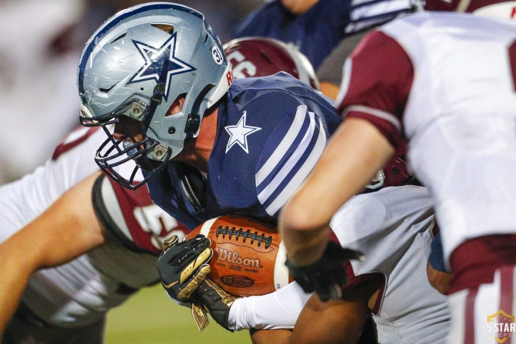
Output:
<svg viewBox="0 0 516 344">
<path fill-rule="evenodd" d="M 390 59 L 374 57 L 379 46 Z M 345 64 L 340 109 L 370 120 L 393 145 L 409 139 L 412 169 L 436 202 L 445 257 L 466 240 L 514 233 L 516 24 L 413 14 L 361 47 Z"/>
</svg>

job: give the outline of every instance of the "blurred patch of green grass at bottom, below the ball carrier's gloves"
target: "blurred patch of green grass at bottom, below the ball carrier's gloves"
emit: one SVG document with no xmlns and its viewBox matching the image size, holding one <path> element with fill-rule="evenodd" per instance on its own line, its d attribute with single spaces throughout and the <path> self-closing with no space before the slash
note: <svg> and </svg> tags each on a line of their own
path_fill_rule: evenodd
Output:
<svg viewBox="0 0 516 344">
<path fill-rule="evenodd" d="M 190 309 L 169 300 L 161 285 L 144 288 L 110 310 L 106 344 L 119 343 L 251 343 L 248 331 L 231 333 L 213 319 L 199 332 Z"/>
</svg>

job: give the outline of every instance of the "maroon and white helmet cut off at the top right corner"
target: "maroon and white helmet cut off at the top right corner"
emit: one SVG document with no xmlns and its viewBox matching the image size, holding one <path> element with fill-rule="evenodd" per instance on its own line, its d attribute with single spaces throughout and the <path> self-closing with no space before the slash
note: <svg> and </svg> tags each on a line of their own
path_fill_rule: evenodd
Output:
<svg viewBox="0 0 516 344">
<path fill-rule="evenodd" d="M 516 21 L 514 0 L 426 0 L 427 11 L 472 12 L 482 17 Z"/>
</svg>

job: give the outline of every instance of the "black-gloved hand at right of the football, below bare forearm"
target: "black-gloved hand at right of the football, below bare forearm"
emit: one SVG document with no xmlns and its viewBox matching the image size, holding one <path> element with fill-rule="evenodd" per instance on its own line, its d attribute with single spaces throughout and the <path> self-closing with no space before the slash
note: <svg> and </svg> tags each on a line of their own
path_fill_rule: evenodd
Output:
<svg viewBox="0 0 516 344">
<path fill-rule="evenodd" d="M 315 291 L 321 301 L 328 301 L 341 299 L 342 287 L 347 282 L 344 262 L 350 259 L 363 260 L 363 255 L 329 241 L 322 257 L 314 264 L 296 266 L 287 259 L 285 265 L 305 292 Z"/>
</svg>

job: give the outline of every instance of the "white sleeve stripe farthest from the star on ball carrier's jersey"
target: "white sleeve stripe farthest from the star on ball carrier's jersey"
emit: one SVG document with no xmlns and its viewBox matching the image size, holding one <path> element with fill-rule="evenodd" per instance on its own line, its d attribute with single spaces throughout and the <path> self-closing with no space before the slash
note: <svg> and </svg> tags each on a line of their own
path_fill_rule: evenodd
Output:
<svg viewBox="0 0 516 344">
<path fill-rule="evenodd" d="M 314 116 L 313 112 L 309 112 L 311 116 Z M 280 194 L 276 197 L 276 199 L 269 204 L 265 208 L 267 211 L 267 214 L 274 215 L 278 210 L 281 209 L 281 207 L 286 203 L 288 198 L 296 191 L 296 189 L 301 185 L 301 183 L 304 181 L 304 179 L 308 176 L 308 174 L 312 171 L 313 167 L 315 166 L 315 163 L 317 160 L 319 160 L 319 157 L 322 154 L 322 151 L 325 148 L 327 137 L 326 133 L 324 131 L 324 127 L 322 126 L 322 121 L 319 119 L 319 135 L 317 136 L 317 141 L 315 142 L 315 146 L 310 152 L 310 155 L 308 156 L 307 160 L 304 161 L 303 165 L 299 168 L 299 170 L 296 172 L 294 177 L 292 177 L 291 181 L 288 182 L 288 184 L 285 186 L 285 188 L 280 192 Z M 304 153 L 304 151 L 303 151 Z M 293 155 L 294 156 L 294 155 Z M 295 163 L 294 161 L 293 163 Z M 287 162 L 288 164 L 288 162 Z M 285 164 L 285 165 L 287 165 Z M 265 190 L 264 190 L 265 191 Z M 260 195 L 259 195 L 260 199 Z M 260 201 L 262 201 L 260 199 Z"/>
</svg>

